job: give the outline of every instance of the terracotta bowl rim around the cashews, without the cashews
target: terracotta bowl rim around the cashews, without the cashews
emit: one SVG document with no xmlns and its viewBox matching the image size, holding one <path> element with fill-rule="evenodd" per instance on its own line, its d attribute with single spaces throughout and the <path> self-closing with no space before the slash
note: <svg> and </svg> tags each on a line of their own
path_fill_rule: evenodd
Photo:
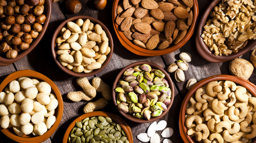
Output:
<svg viewBox="0 0 256 143">
<path fill-rule="evenodd" d="M 182 104 L 181 104 L 181 111 L 180 111 L 180 117 L 179 117 L 179 128 L 180 128 L 180 134 L 181 138 L 185 143 L 198 143 L 198 141 L 195 141 L 192 139 L 189 135 L 187 135 L 187 128 L 185 127 L 185 111 L 187 103 L 189 102 L 189 99 L 191 96 L 199 89 L 200 87 L 203 87 L 205 84 L 212 82 L 212 81 L 220 81 L 220 80 L 229 80 L 235 82 L 237 85 L 241 85 L 245 87 L 247 90 L 250 91 L 250 93 L 256 97 L 256 86 L 240 77 L 232 76 L 232 75 L 214 75 L 207 77 L 200 82 L 198 82 L 194 87 L 192 87 L 188 93 L 186 94 Z M 252 140 L 252 142 L 256 142 L 256 138 Z"/>
</svg>

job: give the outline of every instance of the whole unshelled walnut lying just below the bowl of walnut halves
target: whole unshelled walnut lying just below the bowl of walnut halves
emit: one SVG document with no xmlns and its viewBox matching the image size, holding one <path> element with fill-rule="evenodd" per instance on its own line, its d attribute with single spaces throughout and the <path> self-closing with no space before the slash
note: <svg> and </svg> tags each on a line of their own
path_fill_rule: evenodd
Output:
<svg viewBox="0 0 256 143">
<path fill-rule="evenodd" d="M 232 75 L 247 80 L 252 74 L 253 65 L 245 59 L 236 58 L 229 62 L 228 69 Z"/>
</svg>

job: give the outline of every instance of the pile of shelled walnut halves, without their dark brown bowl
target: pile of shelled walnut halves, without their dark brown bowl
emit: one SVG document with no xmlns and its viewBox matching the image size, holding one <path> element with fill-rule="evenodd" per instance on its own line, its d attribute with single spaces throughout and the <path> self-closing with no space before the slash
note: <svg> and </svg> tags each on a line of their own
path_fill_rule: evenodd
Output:
<svg viewBox="0 0 256 143">
<path fill-rule="evenodd" d="M 256 39 L 255 1 L 223 0 L 211 12 L 201 37 L 214 55 L 229 55 Z"/>
</svg>

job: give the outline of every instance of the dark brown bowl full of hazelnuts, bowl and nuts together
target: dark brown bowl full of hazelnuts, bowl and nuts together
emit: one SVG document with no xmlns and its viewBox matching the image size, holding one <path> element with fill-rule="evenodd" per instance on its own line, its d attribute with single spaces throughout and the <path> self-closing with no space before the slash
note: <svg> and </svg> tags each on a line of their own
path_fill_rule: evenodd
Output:
<svg viewBox="0 0 256 143">
<path fill-rule="evenodd" d="M 51 0 L 0 0 L 0 66 L 29 54 L 51 17 Z"/>
</svg>

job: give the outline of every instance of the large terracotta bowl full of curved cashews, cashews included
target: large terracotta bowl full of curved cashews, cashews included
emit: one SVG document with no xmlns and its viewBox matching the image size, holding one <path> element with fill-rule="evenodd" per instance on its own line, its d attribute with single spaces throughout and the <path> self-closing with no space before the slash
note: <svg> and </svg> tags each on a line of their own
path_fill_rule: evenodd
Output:
<svg viewBox="0 0 256 143">
<path fill-rule="evenodd" d="M 256 142 L 256 86 L 232 75 L 198 82 L 185 96 L 179 128 L 185 143 Z"/>
</svg>

